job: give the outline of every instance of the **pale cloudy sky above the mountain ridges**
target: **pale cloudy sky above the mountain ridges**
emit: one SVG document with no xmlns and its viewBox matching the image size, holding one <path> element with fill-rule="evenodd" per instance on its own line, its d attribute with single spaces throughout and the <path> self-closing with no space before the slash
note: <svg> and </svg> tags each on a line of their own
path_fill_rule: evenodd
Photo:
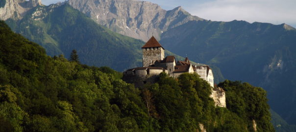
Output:
<svg viewBox="0 0 296 132">
<path fill-rule="evenodd" d="M 48 5 L 64 0 L 42 0 Z M 211 21 L 286 23 L 296 27 L 296 0 L 145 0 L 165 10 L 177 6 L 190 14 Z"/>
</svg>

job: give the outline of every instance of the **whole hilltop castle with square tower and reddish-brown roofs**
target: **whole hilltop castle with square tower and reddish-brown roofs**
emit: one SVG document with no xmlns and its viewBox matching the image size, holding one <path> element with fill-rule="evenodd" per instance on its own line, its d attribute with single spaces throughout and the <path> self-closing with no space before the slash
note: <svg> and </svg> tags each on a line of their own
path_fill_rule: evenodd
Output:
<svg viewBox="0 0 296 132">
<path fill-rule="evenodd" d="M 166 72 L 170 77 L 177 78 L 182 73 L 196 72 L 200 78 L 207 81 L 212 87 L 211 97 L 216 106 L 226 107 L 225 91 L 214 87 L 214 75 L 210 66 L 197 64 L 193 66 L 186 57 L 184 61 L 176 62 L 174 56 L 165 58 L 165 49 L 152 36 L 142 47 L 143 67 L 131 68 L 123 72 L 123 80 L 133 83 L 135 87 L 143 87 L 146 83 L 155 83 L 161 72 Z"/>
</svg>

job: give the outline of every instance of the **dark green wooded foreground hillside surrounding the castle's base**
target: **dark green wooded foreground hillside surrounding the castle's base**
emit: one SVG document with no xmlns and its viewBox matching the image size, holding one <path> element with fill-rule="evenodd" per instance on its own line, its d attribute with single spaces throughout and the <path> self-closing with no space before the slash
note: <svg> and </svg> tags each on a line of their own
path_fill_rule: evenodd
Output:
<svg viewBox="0 0 296 132">
<path fill-rule="evenodd" d="M 162 73 L 142 89 L 120 74 L 47 56 L 0 21 L 0 131 L 196 132 L 203 124 L 207 132 L 253 132 L 255 122 L 257 132 L 274 132 L 262 88 L 224 81 L 226 109 L 214 106 L 197 74 Z"/>
</svg>

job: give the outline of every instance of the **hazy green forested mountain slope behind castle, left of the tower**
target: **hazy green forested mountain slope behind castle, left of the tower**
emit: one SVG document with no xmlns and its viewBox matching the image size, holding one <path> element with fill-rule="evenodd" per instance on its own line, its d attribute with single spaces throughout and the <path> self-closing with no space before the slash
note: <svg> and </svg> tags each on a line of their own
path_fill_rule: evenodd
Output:
<svg viewBox="0 0 296 132">
<path fill-rule="evenodd" d="M 112 32 L 67 3 L 37 6 L 23 19 L 6 22 L 15 32 L 42 45 L 50 56 L 69 57 L 75 49 L 82 64 L 110 66 L 118 71 L 142 66 L 141 47 L 145 42 Z M 170 51 L 166 55 L 183 59 Z M 221 73 L 217 75 L 223 81 Z"/>
</svg>

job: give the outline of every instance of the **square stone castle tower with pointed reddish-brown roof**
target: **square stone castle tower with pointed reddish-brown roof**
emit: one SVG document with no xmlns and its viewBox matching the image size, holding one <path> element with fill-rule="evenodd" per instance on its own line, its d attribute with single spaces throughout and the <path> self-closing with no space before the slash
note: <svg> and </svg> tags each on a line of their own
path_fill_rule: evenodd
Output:
<svg viewBox="0 0 296 132">
<path fill-rule="evenodd" d="M 165 49 L 152 36 L 142 47 L 143 50 L 143 67 L 153 65 L 156 60 L 165 58 Z"/>
</svg>

